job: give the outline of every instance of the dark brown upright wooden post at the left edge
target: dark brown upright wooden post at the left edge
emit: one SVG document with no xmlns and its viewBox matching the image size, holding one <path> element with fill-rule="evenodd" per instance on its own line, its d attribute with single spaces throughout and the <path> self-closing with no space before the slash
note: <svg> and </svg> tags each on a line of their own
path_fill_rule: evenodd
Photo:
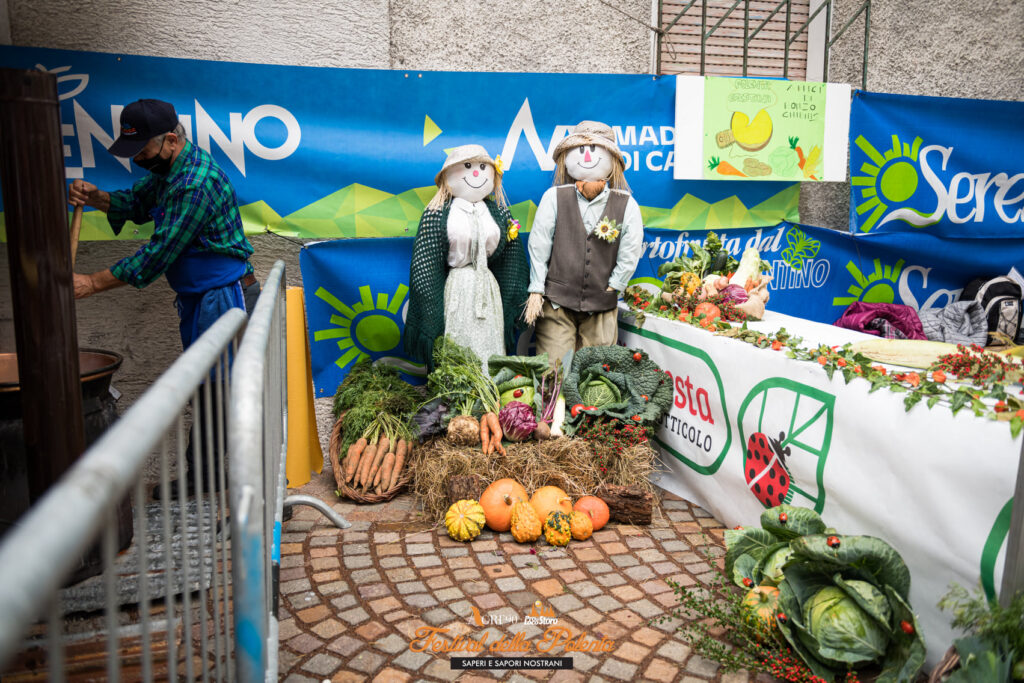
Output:
<svg viewBox="0 0 1024 683">
<path fill-rule="evenodd" d="M 3 191 L 25 423 L 36 501 L 84 450 L 78 326 L 56 79 L 0 69 Z"/>
</svg>

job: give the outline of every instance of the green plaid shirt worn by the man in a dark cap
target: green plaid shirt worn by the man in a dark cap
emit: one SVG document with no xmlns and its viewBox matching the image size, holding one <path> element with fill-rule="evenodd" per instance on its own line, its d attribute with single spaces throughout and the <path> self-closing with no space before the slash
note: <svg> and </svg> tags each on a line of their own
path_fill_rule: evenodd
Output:
<svg viewBox="0 0 1024 683">
<path fill-rule="evenodd" d="M 166 176 L 150 173 L 131 189 L 111 193 L 106 219 L 117 234 L 126 221 L 141 225 L 154 212 L 163 216 L 150 242 L 111 268 L 121 282 L 145 287 L 189 247 L 243 259 L 246 274 L 253 271 L 234 187 L 199 145 L 186 142 Z"/>
</svg>

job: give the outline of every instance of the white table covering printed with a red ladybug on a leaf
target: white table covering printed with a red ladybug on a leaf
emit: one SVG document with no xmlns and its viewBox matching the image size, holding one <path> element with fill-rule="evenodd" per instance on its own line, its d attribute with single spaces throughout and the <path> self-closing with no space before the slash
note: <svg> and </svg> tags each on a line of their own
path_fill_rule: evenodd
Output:
<svg viewBox="0 0 1024 683">
<path fill-rule="evenodd" d="M 786 502 L 844 533 L 886 540 L 910 568 L 910 603 L 937 663 L 954 637 L 951 614 L 936 606 L 950 583 L 998 589 L 1020 437 L 969 409 L 954 416 L 922 401 L 906 411 L 907 393 L 869 393 L 870 382 L 847 383 L 842 372 L 829 379 L 784 346 L 654 316 L 638 328 L 622 304 L 618 326 L 621 343 L 672 375 L 655 483 L 729 526 L 757 524 L 765 507 Z M 805 348 L 876 339 L 771 311 L 748 328 L 784 329 Z"/>
</svg>

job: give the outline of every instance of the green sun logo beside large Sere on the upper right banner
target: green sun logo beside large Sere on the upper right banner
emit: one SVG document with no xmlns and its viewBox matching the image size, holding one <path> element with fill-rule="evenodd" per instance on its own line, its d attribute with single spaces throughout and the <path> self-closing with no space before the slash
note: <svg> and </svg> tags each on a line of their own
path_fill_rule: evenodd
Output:
<svg viewBox="0 0 1024 683">
<path fill-rule="evenodd" d="M 855 175 L 850 180 L 853 186 L 861 187 L 860 198 L 864 200 L 857 205 L 857 214 L 863 216 L 870 212 L 860 224 L 861 231 L 867 232 L 877 223 L 879 225 L 885 223 L 886 220 L 882 220 L 881 223 L 879 220 L 889 210 L 890 204 L 906 202 L 918 191 L 916 161 L 921 152 L 921 141 L 920 137 L 915 137 L 911 144 L 907 144 L 900 142 L 898 135 L 893 135 L 892 148 L 882 154 L 863 135 L 858 135 L 854 140 L 854 144 L 873 162 L 873 164 L 869 162 L 861 164 L 860 172 L 863 175 Z M 919 216 L 926 215 L 915 209 L 909 211 Z M 924 227 L 903 218 L 898 219 L 915 227 Z"/>
</svg>

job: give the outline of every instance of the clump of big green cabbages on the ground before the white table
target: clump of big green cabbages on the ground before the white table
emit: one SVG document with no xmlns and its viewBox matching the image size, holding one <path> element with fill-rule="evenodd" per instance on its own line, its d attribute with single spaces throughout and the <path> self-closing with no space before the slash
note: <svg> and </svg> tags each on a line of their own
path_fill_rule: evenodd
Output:
<svg viewBox="0 0 1024 683">
<path fill-rule="evenodd" d="M 725 532 L 725 571 L 733 583 L 777 585 L 779 633 L 826 681 L 851 668 L 881 666 L 879 681 L 911 681 L 925 642 L 906 602 L 910 572 L 881 539 L 841 536 L 816 512 L 780 505 L 763 528 Z"/>
</svg>

